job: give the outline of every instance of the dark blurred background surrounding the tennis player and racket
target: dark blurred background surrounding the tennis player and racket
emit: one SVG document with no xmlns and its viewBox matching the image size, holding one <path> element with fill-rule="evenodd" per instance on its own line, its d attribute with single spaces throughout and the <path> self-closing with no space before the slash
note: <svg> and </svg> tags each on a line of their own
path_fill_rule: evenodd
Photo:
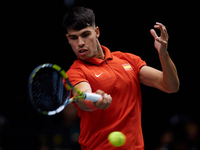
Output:
<svg viewBox="0 0 200 150">
<path fill-rule="evenodd" d="M 7 0 L 1 2 L 0 150 L 79 150 L 73 105 L 55 116 L 38 114 L 27 98 L 31 71 L 46 62 L 68 70 L 76 59 L 62 27 L 73 6 L 92 8 L 102 45 L 139 55 L 161 69 L 150 29 L 163 23 L 180 90 L 166 94 L 141 85 L 146 150 L 199 150 L 199 2 Z M 159 34 L 159 32 L 158 32 Z"/>
</svg>

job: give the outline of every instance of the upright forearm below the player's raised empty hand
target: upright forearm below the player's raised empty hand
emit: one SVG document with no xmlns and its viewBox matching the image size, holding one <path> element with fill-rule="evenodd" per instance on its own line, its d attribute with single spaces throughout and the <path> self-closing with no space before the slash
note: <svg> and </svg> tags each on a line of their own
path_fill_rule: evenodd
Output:
<svg viewBox="0 0 200 150">
<path fill-rule="evenodd" d="M 180 83 L 176 66 L 174 65 L 167 51 L 162 54 L 159 53 L 159 58 L 163 71 L 163 87 L 168 93 L 177 92 Z"/>
</svg>

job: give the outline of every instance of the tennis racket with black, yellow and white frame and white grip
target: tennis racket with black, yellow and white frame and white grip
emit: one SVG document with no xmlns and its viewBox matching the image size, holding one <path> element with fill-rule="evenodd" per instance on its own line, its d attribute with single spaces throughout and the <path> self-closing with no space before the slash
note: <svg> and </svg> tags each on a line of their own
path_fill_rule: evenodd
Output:
<svg viewBox="0 0 200 150">
<path fill-rule="evenodd" d="M 75 91 L 78 96 L 70 98 Z M 68 80 L 66 72 L 56 64 L 42 64 L 36 67 L 28 80 L 28 95 L 35 109 L 43 115 L 55 115 L 77 99 L 97 101 L 101 95 L 83 93 Z"/>
</svg>

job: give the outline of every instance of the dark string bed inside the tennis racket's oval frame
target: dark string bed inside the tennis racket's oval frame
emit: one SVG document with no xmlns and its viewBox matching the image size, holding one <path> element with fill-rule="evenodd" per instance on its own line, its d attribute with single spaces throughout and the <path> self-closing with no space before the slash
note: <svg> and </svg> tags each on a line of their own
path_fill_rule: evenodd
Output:
<svg viewBox="0 0 200 150">
<path fill-rule="evenodd" d="M 58 108 L 63 101 L 64 85 L 59 72 L 51 68 L 40 69 L 33 79 L 32 93 L 34 105 L 41 110 L 51 111 Z"/>
</svg>

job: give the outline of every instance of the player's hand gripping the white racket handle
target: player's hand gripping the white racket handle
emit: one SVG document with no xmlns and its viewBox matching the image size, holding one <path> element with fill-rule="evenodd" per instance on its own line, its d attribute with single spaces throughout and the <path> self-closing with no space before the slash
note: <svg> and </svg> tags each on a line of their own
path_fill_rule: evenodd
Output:
<svg viewBox="0 0 200 150">
<path fill-rule="evenodd" d="M 94 106 L 99 109 L 108 108 L 112 102 L 112 97 L 101 90 L 97 90 L 96 94 L 100 94 L 102 96 L 102 99 L 93 102 Z"/>
</svg>

